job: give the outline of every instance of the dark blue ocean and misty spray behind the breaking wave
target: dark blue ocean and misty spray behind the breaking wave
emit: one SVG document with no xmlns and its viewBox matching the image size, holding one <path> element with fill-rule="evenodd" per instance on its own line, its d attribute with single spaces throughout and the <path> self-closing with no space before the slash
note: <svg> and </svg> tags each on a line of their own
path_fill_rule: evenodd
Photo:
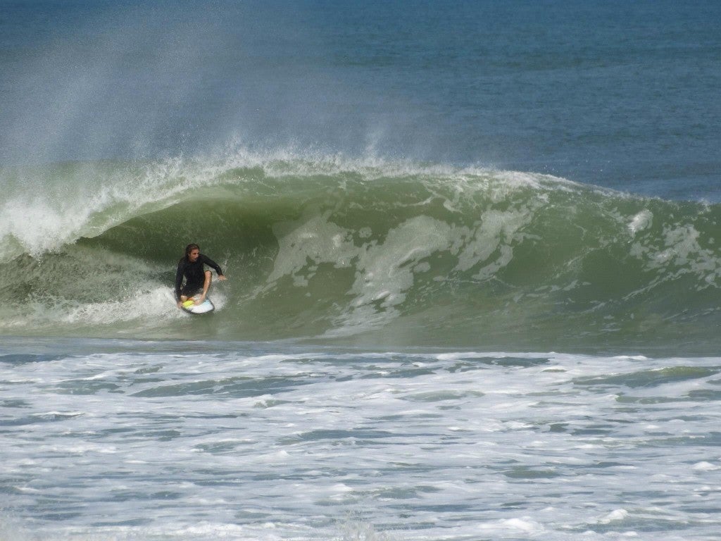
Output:
<svg viewBox="0 0 721 541">
<path fill-rule="evenodd" d="M 718 201 L 715 1 L 3 1 L 4 163 L 319 149 Z"/>
</svg>

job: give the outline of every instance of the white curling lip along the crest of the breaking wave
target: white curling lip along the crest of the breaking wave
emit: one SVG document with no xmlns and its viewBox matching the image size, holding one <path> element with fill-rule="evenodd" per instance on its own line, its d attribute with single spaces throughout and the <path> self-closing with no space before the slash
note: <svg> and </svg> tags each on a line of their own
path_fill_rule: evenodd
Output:
<svg viewBox="0 0 721 541">
<path fill-rule="evenodd" d="M 0 170 L 9 186 L 1 206 L 0 255 L 33 256 L 60 250 L 81 237 L 95 237 L 138 216 L 184 201 L 224 195 L 270 195 L 278 189 L 305 188 L 322 179 L 373 182 L 422 177 L 483 175 L 485 170 L 443 164 L 419 165 L 342 154 L 301 153 L 293 149 L 256 152 L 234 149 L 220 156 L 156 162 L 63 162 L 45 167 Z M 497 172 L 509 187 L 536 184 L 543 175 Z M 554 179 L 554 182 L 564 182 Z M 298 187 L 293 184 L 299 185 Z M 569 182 L 570 184 L 570 182 Z M 267 188 L 264 190 L 264 188 Z M 218 195 L 220 194 L 220 195 Z M 276 194 L 277 195 L 277 194 Z M 452 204 L 452 202 L 448 202 Z"/>
</svg>

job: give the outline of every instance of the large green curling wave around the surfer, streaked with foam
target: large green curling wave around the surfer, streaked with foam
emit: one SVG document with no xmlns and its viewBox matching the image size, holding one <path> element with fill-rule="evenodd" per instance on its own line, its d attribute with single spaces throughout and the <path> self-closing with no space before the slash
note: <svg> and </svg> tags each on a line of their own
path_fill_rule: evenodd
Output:
<svg viewBox="0 0 721 541">
<path fill-rule="evenodd" d="M 27 172 L 4 174 L 27 188 Z M 5 334 L 667 353 L 718 344 L 719 206 L 337 157 L 66 164 L 40 177 L 55 179 L 53 199 L 18 188 L 6 203 L 6 216 L 25 206 L 32 227 L 16 217 L 0 229 Z M 205 319 L 180 313 L 169 293 L 188 242 L 229 277 Z"/>
</svg>

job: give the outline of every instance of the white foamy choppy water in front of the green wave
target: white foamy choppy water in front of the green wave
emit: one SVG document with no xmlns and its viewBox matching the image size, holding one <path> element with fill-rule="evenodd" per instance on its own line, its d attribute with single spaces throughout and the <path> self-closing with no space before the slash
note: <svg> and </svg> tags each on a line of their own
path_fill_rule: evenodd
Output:
<svg viewBox="0 0 721 541">
<path fill-rule="evenodd" d="M 717 357 L 12 340 L 2 531 L 711 540 L 720 371 Z"/>
</svg>

